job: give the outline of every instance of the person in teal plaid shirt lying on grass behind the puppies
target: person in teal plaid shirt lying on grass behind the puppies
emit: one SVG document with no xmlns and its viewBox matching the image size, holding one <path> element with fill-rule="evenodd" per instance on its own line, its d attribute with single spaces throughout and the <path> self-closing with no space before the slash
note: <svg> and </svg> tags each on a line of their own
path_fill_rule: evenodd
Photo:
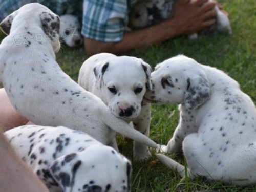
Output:
<svg viewBox="0 0 256 192">
<path fill-rule="evenodd" d="M 170 1 L 170 0 L 166 0 Z M 58 15 L 71 13 L 82 20 L 81 33 L 88 56 L 121 54 L 208 28 L 216 23 L 216 2 L 177 0 L 168 19 L 143 29 L 127 31 L 129 12 L 136 0 L 81 1 L 0 0 L 0 21 L 27 3 L 38 2 Z"/>
</svg>

